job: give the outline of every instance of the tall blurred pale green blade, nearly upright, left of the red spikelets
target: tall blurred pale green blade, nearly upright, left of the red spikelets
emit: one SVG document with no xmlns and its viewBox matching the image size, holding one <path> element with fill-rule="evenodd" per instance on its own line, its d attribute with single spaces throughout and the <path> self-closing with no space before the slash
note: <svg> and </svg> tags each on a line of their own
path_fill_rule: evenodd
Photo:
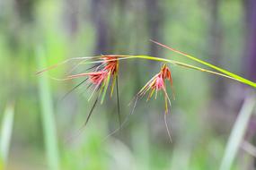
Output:
<svg viewBox="0 0 256 170">
<path fill-rule="evenodd" d="M 39 70 L 46 66 L 44 51 L 41 47 L 37 48 L 36 58 Z M 57 130 L 53 111 L 53 102 L 51 99 L 49 81 L 47 72 L 39 76 L 39 92 L 41 105 L 41 118 L 43 125 L 43 134 L 47 151 L 49 169 L 59 169 L 59 156 L 57 149 Z"/>
</svg>

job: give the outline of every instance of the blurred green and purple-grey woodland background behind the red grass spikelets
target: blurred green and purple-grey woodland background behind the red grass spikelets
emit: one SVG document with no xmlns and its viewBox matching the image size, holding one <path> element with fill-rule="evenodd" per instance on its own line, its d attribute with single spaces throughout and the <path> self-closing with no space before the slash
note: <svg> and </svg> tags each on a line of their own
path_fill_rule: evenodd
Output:
<svg viewBox="0 0 256 170">
<path fill-rule="evenodd" d="M 11 135 L 5 140 L 3 167 L 218 169 L 252 88 L 170 65 L 176 94 L 168 118 L 170 143 L 161 96 L 139 100 L 124 128 L 106 139 L 119 127 L 115 96 L 98 105 L 77 134 L 93 106 L 87 101 L 90 91 L 82 85 L 62 99 L 81 80 L 49 79 L 65 77 L 73 64 L 35 75 L 71 57 L 101 54 L 153 55 L 195 64 L 149 39 L 256 81 L 254 0 L 0 0 L 0 124 L 5 127 L 0 143 L 5 132 Z M 120 62 L 122 121 L 131 110 L 128 103 L 160 65 Z M 255 168 L 255 127 L 252 115 L 245 147 L 238 149 L 232 169 Z"/>
</svg>

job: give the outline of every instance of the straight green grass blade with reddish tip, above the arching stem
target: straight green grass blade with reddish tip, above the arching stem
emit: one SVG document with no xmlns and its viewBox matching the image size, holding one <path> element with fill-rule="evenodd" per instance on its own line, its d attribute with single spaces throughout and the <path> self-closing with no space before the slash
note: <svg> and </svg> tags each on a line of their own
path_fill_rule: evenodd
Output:
<svg viewBox="0 0 256 170">
<path fill-rule="evenodd" d="M 233 77 L 234 79 L 240 80 L 240 81 L 242 81 L 243 83 L 248 84 L 248 85 L 252 86 L 253 88 L 256 88 L 256 83 L 255 83 L 255 82 L 252 82 L 252 81 L 249 81 L 249 80 L 247 80 L 247 79 L 244 79 L 243 77 L 241 77 L 241 76 L 239 76 L 239 75 L 237 75 L 237 74 L 234 74 L 233 72 L 228 72 L 227 70 L 222 69 L 222 68 L 219 68 L 219 67 L 217 67 L 217 66 L 214 65 L 214 64 L 209 64 L 209 63 L 207 63 L 207 62 L 205 62 L 205 61 L 203 61 L 203 60 L 200 60 L 199 58 L 197 58 L 197 57 L 195 57 L 195 56 L 185 54 L 185 53 L 183 53 L 183 52 L 181 52 L 181 51 L 179 51 L 179 50 L 176 50 L 176 49 L 174 49 L 174 48 L 172 48 L 172 47 L 165 46 L 165 45 L 163 45 L 163 44 L 161 44 L 161 43 L 159 43 L 159 42 L 156 42 L 156 41 L 154 41 L 154 40 L 151 40 L 151 41 L 154 42 L 155 44 L 161 46 L 161 47 L 165 47 L 165 48 L 167 48 L 167 49 L 172 50 L 174 53 L 177 53 L 177 54 L 186 56 L 186 57 L 190 58 L 191 60 L 194 60 L 194 61 L 196 61 L 196 62 L 198 62 L 198 63 L 200 63 L 200 64 L 207 65 L 208 67 L 211 67 L 211 68 L 215 69 L 215 70 L 218 71 L 218 72 L 223 72 L 223 73 L 225 73 L 226 75 L 228 75 L 228 76 L 230 76 L 230 77 Z"/>
</svg>

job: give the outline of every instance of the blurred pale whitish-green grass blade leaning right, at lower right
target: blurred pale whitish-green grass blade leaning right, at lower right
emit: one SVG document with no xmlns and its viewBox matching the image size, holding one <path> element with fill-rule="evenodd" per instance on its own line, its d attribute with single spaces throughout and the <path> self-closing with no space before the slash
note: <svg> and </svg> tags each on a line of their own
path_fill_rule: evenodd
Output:
<svg viewBox="0 0 256 170">
<path fill-rule="evenodd" d="M 242 109 L 236 118 L 233 130 L 227 141 L 225 147 L 225 154 L 224 157 L 222 158 L 222 162 L 219 168 L 220 170 L 231 169 L 236 153 L 243 141 L 243 136 L 244 133 L 246 132 L 246 128 L 248 126 L 250 117 L 253 113 L 255 103 L 255 96 L 252 95 L 248 98 L 245 98 Z"/>
</svg>

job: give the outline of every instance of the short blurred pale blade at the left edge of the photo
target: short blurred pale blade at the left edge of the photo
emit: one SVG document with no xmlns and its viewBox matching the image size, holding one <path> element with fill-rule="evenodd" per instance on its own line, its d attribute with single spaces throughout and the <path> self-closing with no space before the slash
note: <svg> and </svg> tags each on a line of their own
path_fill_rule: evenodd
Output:
<svg viewBox="0 0 256 170">
<path fill-rule="evenodd" d="M 14 106 L 13 103 L 6 106 L 4 117 L 2 121 L 1 135 L 0 135 L 0 170 L 4 169 L 7 162 L 7 157 L 10 149 L 11 136 L 13 132 L 13 117 Z"/>
</svg>

